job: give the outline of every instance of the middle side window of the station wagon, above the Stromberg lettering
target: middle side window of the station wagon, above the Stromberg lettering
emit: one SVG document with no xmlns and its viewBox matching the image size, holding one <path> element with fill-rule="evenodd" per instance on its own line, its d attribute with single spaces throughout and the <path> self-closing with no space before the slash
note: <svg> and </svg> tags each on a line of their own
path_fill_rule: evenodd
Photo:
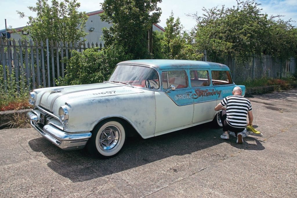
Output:
<svg viewBox="0 0 297 198">
<path fill-rule="evenodd" d="M 207 70 L 191 70 L 190 79 L 192 87 L 209 86 L 209 74 Z"/>
</svg>

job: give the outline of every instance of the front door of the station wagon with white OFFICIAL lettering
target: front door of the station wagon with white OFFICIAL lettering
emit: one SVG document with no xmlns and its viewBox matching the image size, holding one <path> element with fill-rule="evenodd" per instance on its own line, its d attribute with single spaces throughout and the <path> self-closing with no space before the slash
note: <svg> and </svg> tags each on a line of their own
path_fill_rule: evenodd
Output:
<svg viewBox="0 0 297 198">
<path fill-rule="evenodd" d="M 161 78 L 162 91 L 155 92 L 155 132 L 170 132 L 192 124 L 194 99 L 189 87 L 187 70 L 162 71 Z"/>
</svg>

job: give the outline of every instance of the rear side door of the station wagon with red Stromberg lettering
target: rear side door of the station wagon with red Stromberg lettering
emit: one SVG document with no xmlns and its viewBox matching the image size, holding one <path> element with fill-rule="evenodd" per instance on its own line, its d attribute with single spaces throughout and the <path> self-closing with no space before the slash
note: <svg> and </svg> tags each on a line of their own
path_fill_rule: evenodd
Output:
<svg viewBox="0 0 297 198">
<path fill-rule="evenodd" d="M 211 120 L 214 118 L 214 107 L 217 104 L 217 90 L 211 86 L 210 70 L 190 70 L 190 86 L 194 99 L 193 123 Z"/>
</svg>

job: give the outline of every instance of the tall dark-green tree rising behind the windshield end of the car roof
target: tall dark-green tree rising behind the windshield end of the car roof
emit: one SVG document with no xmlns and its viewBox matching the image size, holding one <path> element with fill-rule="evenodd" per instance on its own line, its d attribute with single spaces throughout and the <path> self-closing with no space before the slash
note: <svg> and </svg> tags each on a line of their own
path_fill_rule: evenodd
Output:
<svg viewBox="0 0 297 198">
<path fill-rule="evenodd" d="M 100 14 L 103 21 L 112 26 L 103 29 L 105 45 L 116 44 L 127 49 L 135 59 L 148 58 L 147 32 L 159 22 L 162 0 L 105 0 Z"/>
</svg>

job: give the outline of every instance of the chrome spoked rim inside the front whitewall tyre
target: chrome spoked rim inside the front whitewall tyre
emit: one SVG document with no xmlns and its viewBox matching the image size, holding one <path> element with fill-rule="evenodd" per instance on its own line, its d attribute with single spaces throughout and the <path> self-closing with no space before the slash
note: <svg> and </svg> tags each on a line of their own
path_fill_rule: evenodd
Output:
<svg viewBox="0 0 297 198">
<path fill-rule="evenodd" d="M 115 125 L 109 125 L 100 131 L 98 145 L 105 152 L 111 152 L 121 142 L 121 131 Z"/>
</svg>

